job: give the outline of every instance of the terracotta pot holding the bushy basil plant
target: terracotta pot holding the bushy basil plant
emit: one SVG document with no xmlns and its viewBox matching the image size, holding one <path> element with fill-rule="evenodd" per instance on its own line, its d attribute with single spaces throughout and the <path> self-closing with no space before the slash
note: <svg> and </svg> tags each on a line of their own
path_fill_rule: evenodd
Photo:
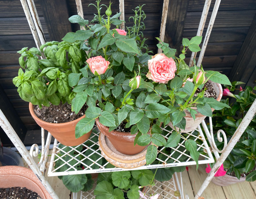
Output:
<svg viewBox="0 0 256 199">
<path fill-rule="evenodd" d="M 82 144 L 90 137 L 92 133 L 92 131 L 90 131 L 81 136 L 80 138 L 76 139 L 75 137 L 75 127 L 77 123 L 85 117 L 85 115 L 70 122 L 56 124 L 45 122 L 39 119 L 34 112 L 34 105 L 32 103 L 29 103 L 29 112 L 40 127 L 48 130 L 51 135 L 63 145 L 77 146 L 79 144 Z"/>
</svg>

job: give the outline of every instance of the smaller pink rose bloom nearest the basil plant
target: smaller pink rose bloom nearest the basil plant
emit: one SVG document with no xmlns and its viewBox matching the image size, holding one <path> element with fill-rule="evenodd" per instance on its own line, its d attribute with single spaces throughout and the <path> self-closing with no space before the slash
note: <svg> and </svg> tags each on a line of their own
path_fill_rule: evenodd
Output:
<svg viewBox="0 0 256 199">
<path fill-rule="evenodd" d="M 92 73 L 94 74 L 95 71 L 100 75 L 104 74 L 108 69 L 108 65 L 110 64 L 109 61 L 106 61 L 101 55 L 97 57 L 92 57 L 86 60 L 88 63 Z"/>
</svg>

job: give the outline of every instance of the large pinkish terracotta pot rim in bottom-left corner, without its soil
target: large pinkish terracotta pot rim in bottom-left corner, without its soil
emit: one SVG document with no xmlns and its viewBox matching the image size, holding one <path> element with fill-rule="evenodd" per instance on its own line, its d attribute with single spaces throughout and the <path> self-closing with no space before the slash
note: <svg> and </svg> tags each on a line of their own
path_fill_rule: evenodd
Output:
<svg viewBox="0 0 256 199">
<path fill-rule="evenodd" d="M 31 169 L 20 166 L 0 167 L 0 188 L 26 187 L 43 199 L 52 199 Z"/>
</svg>

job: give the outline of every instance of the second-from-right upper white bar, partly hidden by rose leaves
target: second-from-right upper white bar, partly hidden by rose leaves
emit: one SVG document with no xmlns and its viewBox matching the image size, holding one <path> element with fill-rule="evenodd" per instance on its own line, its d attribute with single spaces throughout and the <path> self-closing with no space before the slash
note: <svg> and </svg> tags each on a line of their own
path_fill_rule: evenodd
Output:
<svg viewBox="0 0 256 199">
<path fill-rule="evenodd" d="M 202 34 L 203 34 L 203 30 L 205 28 L 205 22 L 206 22 L 208 11 L 209 11 L 209 8 L 210 8 L 210 5 L 211 5 L 211 1 L 212 0 L 206 0 L 205 1 L 205 5 L 204 5 L 203 12 L 202 12 L 202 15 L 201 15 L 201 20 L 200 20 L 198 30 L 197 30 L 197 36 L 202 36 Z M 189 61 L 189 67 L 192 66 L 193 59 L 196 58 L 196 56 L 197 56 L 197 52 L 196 53 L 192 52 L 191 57 L 190 57 L 190 61 Z"/>
</svg>

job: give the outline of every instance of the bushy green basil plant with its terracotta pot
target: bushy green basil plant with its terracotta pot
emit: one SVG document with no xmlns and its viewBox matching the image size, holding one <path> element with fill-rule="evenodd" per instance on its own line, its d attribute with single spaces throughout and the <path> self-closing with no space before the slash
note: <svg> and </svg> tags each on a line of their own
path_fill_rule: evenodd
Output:
<svg viewBox="0 0 256 199">
<path fill-rule="evenodd" d="M 85 117 L 87 106 L 71 108 L 76 93 L 72 92 L 73 85 L 68 80 L 72 78 L 69 74 L 80 70 L 87 55 L 83 49 L 80 50 L 80 43 L 65 41 L 46 42 L 40 50 L 46 59 L 38 59 L 41 52 L 37 48 L 26 47 L 18 51 L 21 68 L 13 83 L 18 87 L 19 96 L 30 102 L 30 114 L 40 127 L 48 130 L 62 144 L 81 144 L 88 139 L 90 132 L 76 139 L 75 125 Z"/>
</svg>

